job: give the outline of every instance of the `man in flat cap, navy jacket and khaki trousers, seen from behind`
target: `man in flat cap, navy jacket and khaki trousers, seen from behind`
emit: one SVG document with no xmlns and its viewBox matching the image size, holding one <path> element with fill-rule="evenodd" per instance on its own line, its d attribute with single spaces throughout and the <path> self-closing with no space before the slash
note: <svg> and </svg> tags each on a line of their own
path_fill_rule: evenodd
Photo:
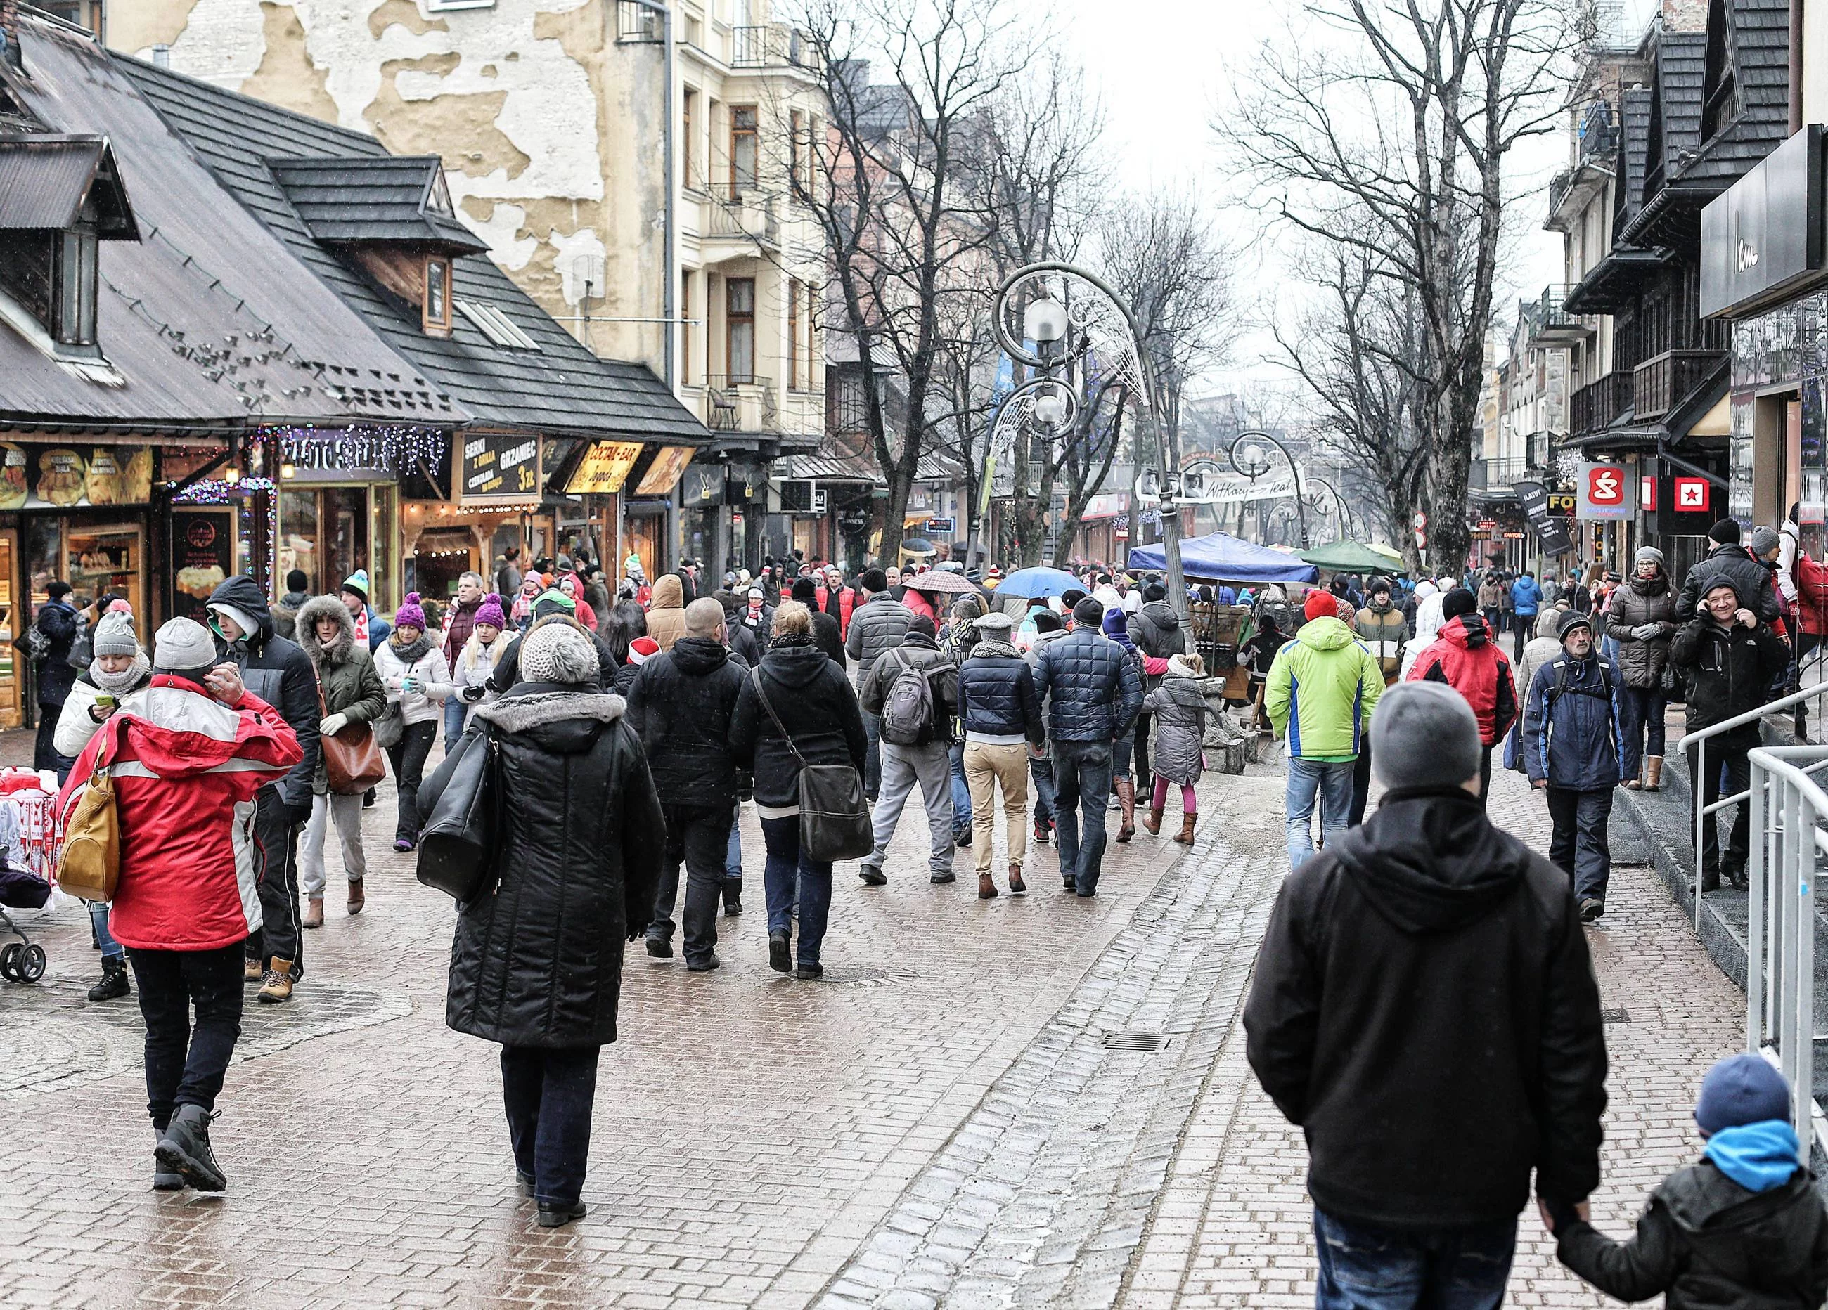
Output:
<svg viewBox="0 0 1828 1310">
<path fill-rule="evenodd" d="M 978 897 L 996 895 L 991 857 L 996 791 L 1004 797 L 1009 840 L 1009 890 L 1027 892 L 1027 755 L 1046 740 L 1035 674 L 1009 639 L 1015 619 L 1004 612 L 976 619 L 978 643 L 958 671 L 958 716 L 965 727 L 965 782 L 971 786 L 972 848 Z"/>
</svg>

